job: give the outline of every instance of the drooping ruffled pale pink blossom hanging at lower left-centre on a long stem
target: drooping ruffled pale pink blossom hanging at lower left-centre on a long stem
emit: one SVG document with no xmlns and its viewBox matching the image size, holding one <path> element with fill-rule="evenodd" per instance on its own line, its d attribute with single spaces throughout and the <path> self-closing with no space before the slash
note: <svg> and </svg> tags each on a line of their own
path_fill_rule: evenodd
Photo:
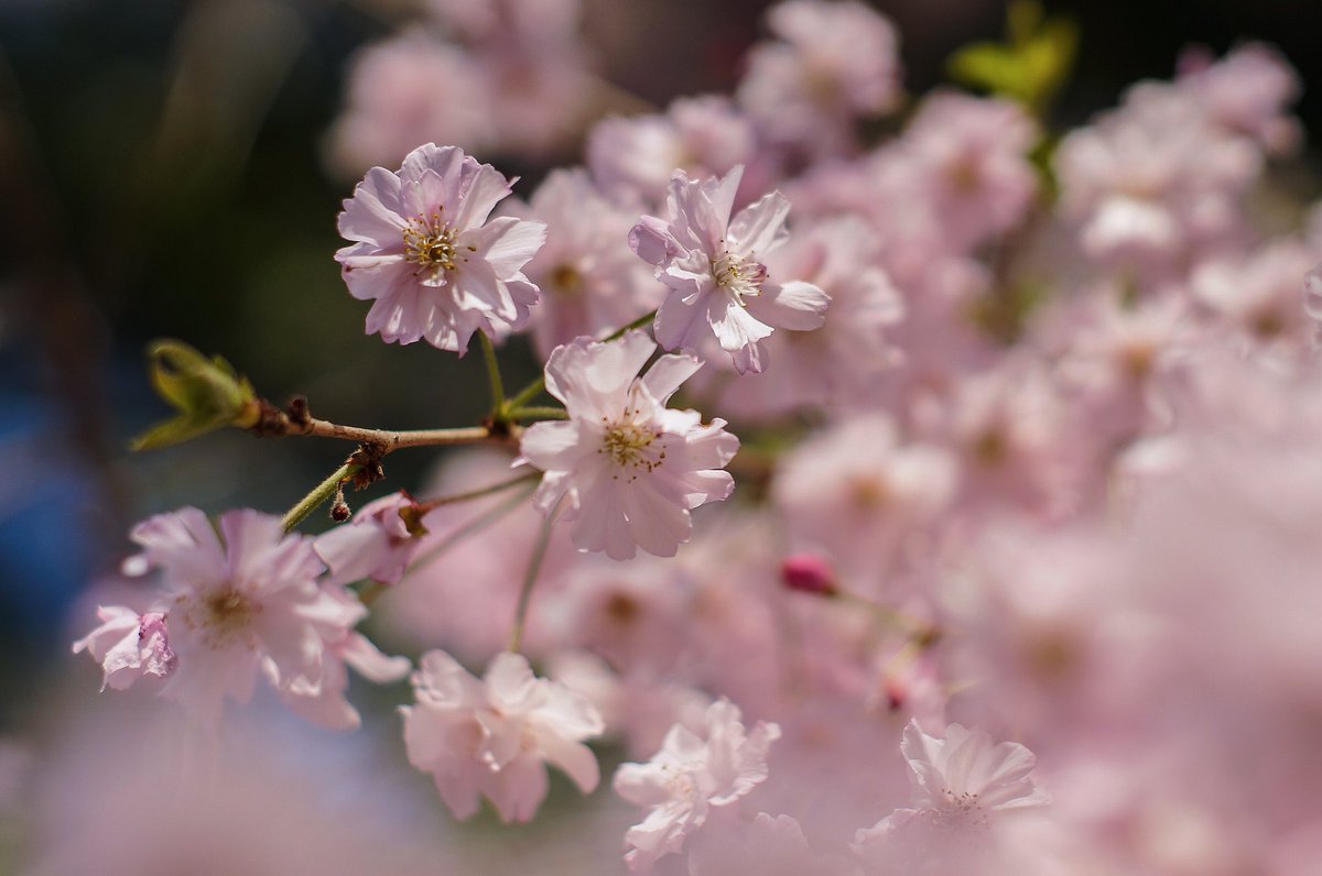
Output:
<svg viewBox="0 0 1322 876">
<path fill-rule="evenodd" d="M 546 797 L 543 764 L 561 768 L 584 794 L 599 780 L 583 740 L 602 733 L 586 696 L 533 675 L 509 651 L 479 680 L 444 651 L 428 651 L 412 675 L 415 706 L 402 706 L 408 762 L 431 773 L 455 818 L 486 797 L 505 822 L 526 822 Z"/>
</svg>

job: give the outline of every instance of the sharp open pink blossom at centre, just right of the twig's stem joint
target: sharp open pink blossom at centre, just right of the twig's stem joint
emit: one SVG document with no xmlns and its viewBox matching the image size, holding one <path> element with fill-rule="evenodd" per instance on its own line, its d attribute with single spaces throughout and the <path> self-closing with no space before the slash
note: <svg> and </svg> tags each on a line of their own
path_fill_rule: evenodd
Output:
<svg viewBox="0 0 1322 876">
<path fill-rule="evenodd" d="M 674 556 L 693 530 L 689 511 L 734 489 L 719 470 L 739 449 L 724 420 L 703 425 L 697 411 L 665 407 L 702 363 L 664 355 L 635 377 L 654 350 L 641 332 L 557 347 L 546 390 L 564 402 L 570 419 L 529 428 L 516 461 L 546 473 L 533 497 L 543 514 L 568 497 L 570 536 L 579 550 L 617 560 L 639 547 Z"/>
</svg>

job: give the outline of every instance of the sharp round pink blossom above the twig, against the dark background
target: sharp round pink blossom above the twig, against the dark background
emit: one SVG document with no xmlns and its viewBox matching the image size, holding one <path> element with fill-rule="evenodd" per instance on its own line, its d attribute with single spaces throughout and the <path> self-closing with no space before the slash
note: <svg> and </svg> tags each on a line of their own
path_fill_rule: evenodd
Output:
<svg viewBox="0 0 1322 876">
<path fill-rule="evenodd" d="M 522 328 L 538 300 L 522 267 L 546 239 L 541 222 L 488 221 L 510 181 L 457 147 L 428 143 L 391 173 L 373 168 L 344 202 L 340 234 L 349 293 L 374 300 L 368 334 L 394 344 L 426 338 L 463 354 L 473 332 L 500 340 Z"/>
</svg>

